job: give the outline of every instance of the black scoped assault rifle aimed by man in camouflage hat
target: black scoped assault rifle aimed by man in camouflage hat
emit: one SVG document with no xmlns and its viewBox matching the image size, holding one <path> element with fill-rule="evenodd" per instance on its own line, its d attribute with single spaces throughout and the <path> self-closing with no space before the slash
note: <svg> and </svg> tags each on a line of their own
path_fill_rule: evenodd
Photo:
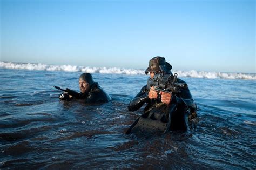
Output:
<svg viewBox="0 0 256 170">
<path fill-rule="evenodd" d="M 179 83 L 177 81 L 178 74 L 155 74 L 151 81 L 148 81 L 148 88 L 154 86 L 157 91 L 163 91 L 166 93 L 180 93 L 181 88 L 186 89 L 186 83 Z"/>
</svg>

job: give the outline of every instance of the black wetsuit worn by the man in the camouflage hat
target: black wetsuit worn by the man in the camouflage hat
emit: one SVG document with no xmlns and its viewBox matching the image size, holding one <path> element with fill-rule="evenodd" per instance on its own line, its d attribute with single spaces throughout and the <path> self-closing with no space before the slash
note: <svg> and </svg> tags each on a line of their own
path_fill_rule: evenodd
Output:
<svg viewBox="0 0 256 170">
<path fill-rule="evenodd" d="M 150 80 L 151 78 L 149 78 Z M 148 80 L 148 81 L 149 81 Z M 178 79 L 179 83 L 185 83 L 185 81 Z M 140 92 L 131 100 L 128 110 L 136 111 L 142 107 L 145 103 L 147 106 L 144 108 L 144 118 L 151 118 L 152 120 L 159 120 L 163 123 L 168 122 L 170 106 L 177 104 L 176 110 L 171 115 L 171 127 L 172 130 L 188 130 L 188 119 L 196 117 L 196 104 L 192 98 L 190 90 L 188 88 L 181 89 L 181 93 L 172 94 L 172 100 L 169 105 L 161 102 L 161 97 L 157 99 L 149 98 L 150 87 L 145 85 Z"/>
</svg>

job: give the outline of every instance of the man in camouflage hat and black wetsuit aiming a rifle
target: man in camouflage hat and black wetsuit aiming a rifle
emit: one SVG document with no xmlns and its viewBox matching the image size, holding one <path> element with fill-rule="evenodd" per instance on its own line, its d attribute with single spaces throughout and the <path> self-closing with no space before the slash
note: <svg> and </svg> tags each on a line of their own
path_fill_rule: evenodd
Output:
<svg viewBox="0 0 256 170">
<path fill-rule="evenodd" d="M 171 94 L 162 91 L 156 91 L 154 86 L 149 85 L 154 74 L 167 73 L 172 74 L 172 66 L 165 62 L 164 57 L 153 57 L 149 62 L 149 67 L 145 70 L 150 72 L 150 78 L 147 85 L 143 86 L 140 92 L 130 101 L 129 111 L 136 111 L 145 103 L 142 117 L 137 119 L 137 123 L 130 127 L 127 133 L 130 133 L 133 127 L 142 126 L 143 128 L 158 128 L 159 130 L 189 130 L 188 119 L 196 117 L 196 104 L 188 88 L 181 89 L 178 94 Z M 185 83 L 177 79 L 179 83 Z M 171 112 L 171 114 L 170 114 Z M 169 115 L 171 117 L 169 118 Z M 157 121 L 156 121 L 157 120 Z M 169 122 L 170 121 L 170 122 Z M 167 126 L 169 122 L 169 126 Z M 138 124 L 138 125 L 137 125 Z M 136 126 L 135 126 L 136 125 Z"/>
</svg>

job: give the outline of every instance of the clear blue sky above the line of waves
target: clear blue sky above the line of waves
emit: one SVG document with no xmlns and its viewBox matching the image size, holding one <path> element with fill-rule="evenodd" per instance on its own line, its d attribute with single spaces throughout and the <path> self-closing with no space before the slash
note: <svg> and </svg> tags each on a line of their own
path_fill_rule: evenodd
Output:
<svg viewBox="0 0 256 170">
<path fill-rule="evenodd" d="M 255 73 L 255 1 L 1 1 L 1 60 Z"/>
</svg>

